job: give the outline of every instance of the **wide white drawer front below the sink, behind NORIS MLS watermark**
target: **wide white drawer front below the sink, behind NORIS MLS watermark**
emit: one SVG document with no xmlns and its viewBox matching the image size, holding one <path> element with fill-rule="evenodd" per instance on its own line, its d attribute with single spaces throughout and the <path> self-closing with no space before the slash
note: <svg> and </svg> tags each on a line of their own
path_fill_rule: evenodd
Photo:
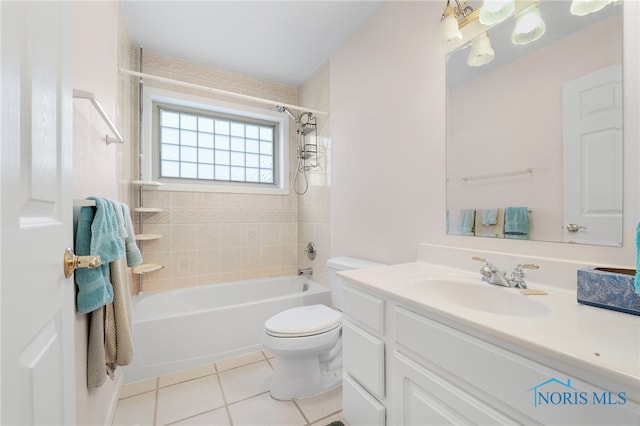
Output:
<svg viewBox="0 0 640 426">
<path fill-rule="evenodd" d="M 591 383 L 570 377 L 402 307 L 395 310 L 395 337 L 398 351 L 517 422 L 612 425 L 640 419 L 631 392 L 623 402 L 622 389 L 598 388 L 596 376 Z"/>
</svg>

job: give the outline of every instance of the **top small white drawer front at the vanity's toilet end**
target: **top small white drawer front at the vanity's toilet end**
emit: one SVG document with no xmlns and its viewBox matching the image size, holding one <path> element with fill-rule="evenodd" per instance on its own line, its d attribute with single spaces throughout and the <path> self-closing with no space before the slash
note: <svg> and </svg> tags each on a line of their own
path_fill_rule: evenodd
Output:
<svg viewBox="0 0 640 426">
<path fill-rule="evenodd" d="M 343 297 L 345 315 L 374 333 L 384 335 L 383 299 L 357 290 L 348 284 L 345 285 Z"/>
</svg>

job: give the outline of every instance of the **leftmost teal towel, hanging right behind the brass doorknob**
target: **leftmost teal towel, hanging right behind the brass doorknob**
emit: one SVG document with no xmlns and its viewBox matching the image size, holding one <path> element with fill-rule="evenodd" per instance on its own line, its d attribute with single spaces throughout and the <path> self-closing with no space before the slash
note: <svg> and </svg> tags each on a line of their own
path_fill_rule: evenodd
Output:
<svg viewBox="0 0 640 426">
<path fill-rule="evenodd" d="M 97 254 L 91 252 L 91 224 L 95 216 L 95 207 L 82 207 L 76 229 L 75 252 L 78 256 Z M 78 312 L 86 314 L 113 301 L 113 286 L 109 281 L 109 266 L 105 263 L 99 268 L 76 269 L 75 281 L 78 286 L 76 303 Z"/>
</svg>

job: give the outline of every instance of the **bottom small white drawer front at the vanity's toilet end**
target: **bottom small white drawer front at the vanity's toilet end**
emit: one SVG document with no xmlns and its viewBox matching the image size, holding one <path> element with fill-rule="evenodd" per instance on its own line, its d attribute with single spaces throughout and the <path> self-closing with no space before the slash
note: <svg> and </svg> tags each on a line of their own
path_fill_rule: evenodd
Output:
<svg viewBox="0 0 640 426">
<path fill-rule="evenodd" d="M 342 377 L 342 401 L 342 415 L 349 426 L 384 426 L 384 406 L 348 374 Z"/>
</svg>

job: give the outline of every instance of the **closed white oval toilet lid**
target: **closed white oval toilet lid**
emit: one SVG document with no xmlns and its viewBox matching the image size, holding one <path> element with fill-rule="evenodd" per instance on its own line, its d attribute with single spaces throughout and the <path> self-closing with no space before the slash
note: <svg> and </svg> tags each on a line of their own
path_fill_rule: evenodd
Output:
<svg viewBox="0 0 640 426">
<path fill-rule="evenodd" d="M 341 318 L 339 311 L 326 305 L 299 306 L 275 314 L 264 327 L 272 336 L 310 336 L 338 327 Z"/>
</svg>

